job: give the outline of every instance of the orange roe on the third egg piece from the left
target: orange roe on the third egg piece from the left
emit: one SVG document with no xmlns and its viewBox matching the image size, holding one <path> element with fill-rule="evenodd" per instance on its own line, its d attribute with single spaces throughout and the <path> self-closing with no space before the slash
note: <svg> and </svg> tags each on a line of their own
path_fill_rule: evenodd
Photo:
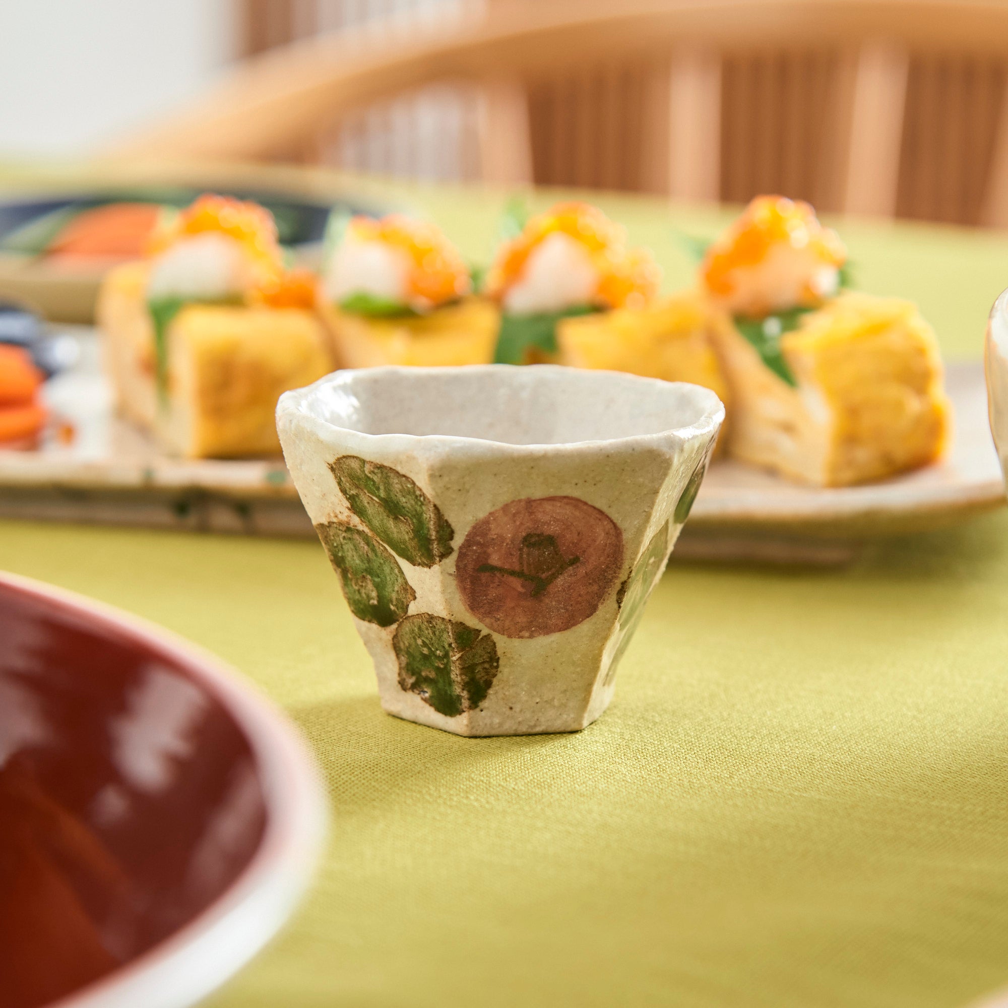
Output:
<svg viewBox="0 0 1008 1008">
<path fill-rule="evenodd" d="M 517 238 L 507 242 L 487 275 L 487 293 L 498 300 L 525 268 L 539 243 L 554 233 L 569 235 L 592 258 L 599 272 L 596 301 L 606 307 L 639 307 L 657 293 L 660 271 L 646 249 L 628 250 L 618 224 L 587 203 L 560 203 L 533 217 Z"/>
</svg>

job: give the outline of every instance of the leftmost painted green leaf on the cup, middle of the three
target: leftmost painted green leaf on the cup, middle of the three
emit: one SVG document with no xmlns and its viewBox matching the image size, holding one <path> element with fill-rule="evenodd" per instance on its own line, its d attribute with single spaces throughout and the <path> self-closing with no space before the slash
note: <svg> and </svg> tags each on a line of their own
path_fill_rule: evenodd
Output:
<svg viewBox="0 0 1008 1008">
<path fill-rule="evenodd" d="M 340 521 L 316 525 L 329 558 L 340 576 L 350 611 L 367 623 L 398 623 L 416 598 L 396 558 L 363 529 Z"/>
</svg>

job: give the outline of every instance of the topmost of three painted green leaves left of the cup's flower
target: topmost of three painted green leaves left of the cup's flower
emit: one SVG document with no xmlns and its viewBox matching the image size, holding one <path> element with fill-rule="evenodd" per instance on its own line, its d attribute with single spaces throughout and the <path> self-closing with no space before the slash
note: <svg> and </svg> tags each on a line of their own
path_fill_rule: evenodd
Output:
<svg viewBox="0 0 1008 1008">
<path fill-rule="evenodd" d="M 451 555 L 455 529 L 408 476 L 356 455 L 329 468 L 354 514 L 394 553 L 423 568 Z"/>
</svg>

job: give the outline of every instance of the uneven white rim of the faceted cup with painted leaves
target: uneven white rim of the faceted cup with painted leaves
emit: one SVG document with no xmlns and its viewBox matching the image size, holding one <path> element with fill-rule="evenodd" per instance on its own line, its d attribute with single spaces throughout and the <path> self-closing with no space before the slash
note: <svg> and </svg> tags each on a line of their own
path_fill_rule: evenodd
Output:
<svg viewBox="0 0 1008 1008">
<path fill-rule="evenodd" d="M 627 434 L 620 437 L 593 438 L 576 442 L 540 442 L 529 445 L 516 445 L 511 442 L 493 440 L 488 437 L 470 437 L 465 434 L 407 434 L 407 433 L 381 433 L 373 434 L 364 430 L 357 430 L 354 427 L 344 427 L 330 420 L 324 419 L 310 408 L 312 399 L 322 388 L 331 385 L 352 385 L 358 376 L 367 376 L 369 380 L 380 378 L 383 374 L 396 374 L 408 378 L 422 378 L 430 374 L 465 374 L 487 372 L 510 374 L 518 381 L 524 380 L 523 375 L 551 375 L 560 381 L 570 381 L 577 376 L 579 381 L 612 381 L 616 380 L 625 384 L 628 388 L 651 388 L 658 389 L 662 393 L 674 392 L 677 395 L 685 394 L 695 400 L 696 405 L 701 410 L 700 417 L 692 423 L 680 427 L 669 427 L 666 430 L 653 431 L 651 433 Z M 705 388 L 703 385 L 696 385 L 690 382 L 669 382 L 661 378 L 645 378 L 641 375 L 629 374 L 625 371 L 604 371 L 602 369 L 571 368 L 559 364 L 533 364 L 527 366 L 514 364 L 462 364 L 450 367 L 407 367 L 402 365 L 382 365 L 375 368 L 341 368 L 333 371 L 318 381 L 306 385 L 303 388 L 292 389 L 284 392 L 276 404 L 277 425 L 284 421 L 291 423 L 297 420 L 310 419 L 321 429 L 334 433 L 359 437 L 364 442 L 373 443 L 378 446 L 395 448 L 397 450 L 408 449 L 409 446 L 416 448 L 426 446 L 437 449 L 463 449 L 470 450 L 482 447 L 485 450 L 493 450 L 501 453 L 540 454 L 543 451 L 564 451 L 564 450 L 593 450 L 599 448 L 645 448 L 647 446 L 658 445 L 673 437 L 681 440 L 691 440 L 698 436 L 711 434 L 718 430 L 725 419 L 725 405 L 718 397 L 717 393 Z"/>
</svg>

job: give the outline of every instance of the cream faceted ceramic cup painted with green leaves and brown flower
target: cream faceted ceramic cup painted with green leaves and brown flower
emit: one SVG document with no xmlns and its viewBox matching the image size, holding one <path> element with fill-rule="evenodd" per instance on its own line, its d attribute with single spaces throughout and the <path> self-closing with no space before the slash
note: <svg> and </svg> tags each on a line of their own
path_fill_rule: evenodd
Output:
<svg viewBox="0 0 1008 1008">
<path fill-rule="evenodd" d="M 337 371 L 277 428 L 382 707 L 458 735 L 599 717 L 725 416 L 551 365 Z"/>
</svg>

